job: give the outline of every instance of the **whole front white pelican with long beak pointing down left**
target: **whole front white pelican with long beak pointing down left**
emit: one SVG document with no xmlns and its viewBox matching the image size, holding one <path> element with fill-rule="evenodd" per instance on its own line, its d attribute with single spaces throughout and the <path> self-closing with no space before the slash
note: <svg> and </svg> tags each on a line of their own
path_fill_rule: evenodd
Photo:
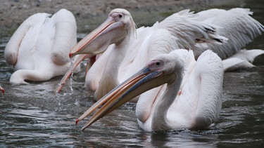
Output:
<svg viewBox="0 0 264 148">
<path fill-rule="evenodd" d="M 144 130 L 207 128 L 220 114 L 223 74 L 222 61 L 212 51 L 203 52 L 197 62 L 194 53 L 187 50 L 157 55 L 90 107 L 76 123 L 106 102 L 83 126 L 84 130 L 143 93 L 137 102 L 136 115 Z"/>
</svg>

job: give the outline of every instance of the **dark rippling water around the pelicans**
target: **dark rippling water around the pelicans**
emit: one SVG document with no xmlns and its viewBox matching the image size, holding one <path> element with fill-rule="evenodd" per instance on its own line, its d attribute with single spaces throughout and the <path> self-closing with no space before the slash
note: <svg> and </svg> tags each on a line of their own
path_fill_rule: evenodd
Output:
<svg viewBox="0 0 264 148">
<path fill-rule="evenodd" d="M 263 1 L 233 1 L 221 8 L 251 8 L 264 24 Z M 263 48 L 264 36 L 247 48 Z M 8 38 L 0 39 L 1 147 L 263 147 L 264 60 L 257 67 L 225 73 L 220 118 L 208 130 L 179 129 L 147 133 L 137 126 L 135 105 L 130 103 L 81 132 L 79 117 L 94 101 L 83 89 L 84 73 L 74 76 L 63 93 L 54 93 L 61 76 L 42 83 L 11 85 L 13 69 L 4 60 Z"/>
</svg>

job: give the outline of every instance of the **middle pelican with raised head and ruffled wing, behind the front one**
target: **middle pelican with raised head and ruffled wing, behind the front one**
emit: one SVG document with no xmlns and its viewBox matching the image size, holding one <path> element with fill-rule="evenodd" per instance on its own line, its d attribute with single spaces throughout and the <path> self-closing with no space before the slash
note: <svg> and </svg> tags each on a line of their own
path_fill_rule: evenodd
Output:
<svg viewBox="0 0 264 148">
<path fill-rule="evenodd" d="M 197 21 L 189 10 L 175 13 L 160 23 L 156 22 L 153 27 L 136 30 L 130 13 L 117 8 L 109 13 L 108 19 L 102 25 L 77 43 L 70 51 L 70 57 L 77 54 L 96 55 L 106 51 L 89 69 L 86 76 L 87 88 L 95 91 L 94 97 L 99 99 L 120 81 L 142 68 L 150 58 L 161 53 L 169 53 L 175 48 L 148 51 L 148 46 L 153 43 L 150 41 L 153 36 L 156 36 L 157 40 L 159 36 L 166 36 L 159 35 L 159 32 L 175 36 L 173 42 L 177 44 L 177 48 L 189 49 L 194 48 L 196 43 L 222 43 L 226 40 L 225 37 L 215 34 L 213 26 Z M 69 73 L 65 74 L 65 77 L 66 75 L 70 76 Z M 63 83 L 65 79 L 61 81 L 61 84 Z M 59 86 L 57 92 L 61 89 L 61 85 Z"/>
</svg>

